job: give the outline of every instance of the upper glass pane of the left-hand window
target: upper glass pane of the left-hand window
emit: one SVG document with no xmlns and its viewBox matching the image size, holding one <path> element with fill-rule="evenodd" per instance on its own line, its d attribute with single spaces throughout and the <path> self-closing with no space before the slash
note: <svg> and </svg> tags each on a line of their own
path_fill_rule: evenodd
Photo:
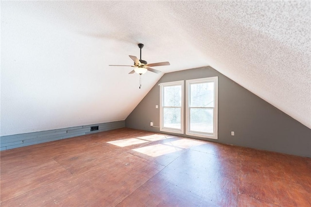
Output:
<svg viewBox="0 0 311 207">
<path fill-rule="evenodd" d="M 181 106 L 181 86 L 164 86 L 164 106 Z"/>
</svg>

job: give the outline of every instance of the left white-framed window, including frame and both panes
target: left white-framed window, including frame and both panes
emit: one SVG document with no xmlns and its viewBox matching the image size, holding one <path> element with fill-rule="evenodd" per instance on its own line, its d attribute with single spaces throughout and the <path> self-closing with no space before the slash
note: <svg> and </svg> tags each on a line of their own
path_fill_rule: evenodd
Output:
<svg viewBox="0 0 311 207">
<path fill-rule="evenodd" d="M 160 131 L 184 134 L 184 81 L 160 85 Z"/>
</svg>

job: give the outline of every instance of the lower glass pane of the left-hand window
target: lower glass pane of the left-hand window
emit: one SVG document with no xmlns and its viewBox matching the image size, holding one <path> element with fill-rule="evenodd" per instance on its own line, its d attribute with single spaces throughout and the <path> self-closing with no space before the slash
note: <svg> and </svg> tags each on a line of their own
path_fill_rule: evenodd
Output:
<svg viewBox="0 0 311 207">
<path fill-rule="evenodd" d="M 163 108 L 163 127 L 181 129 L 180 108 Z"/>
</svg>

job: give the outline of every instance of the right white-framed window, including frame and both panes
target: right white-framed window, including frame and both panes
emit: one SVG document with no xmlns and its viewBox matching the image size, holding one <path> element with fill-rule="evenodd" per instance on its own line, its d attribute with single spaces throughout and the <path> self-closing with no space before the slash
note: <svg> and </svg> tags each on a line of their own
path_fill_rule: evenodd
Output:
<svg viewBox="0 0 311 207">
<path fill-rule="evenodd" d="M 217 139 L 218 77 L 186 81 L 186 134 Z"/>
</svg>

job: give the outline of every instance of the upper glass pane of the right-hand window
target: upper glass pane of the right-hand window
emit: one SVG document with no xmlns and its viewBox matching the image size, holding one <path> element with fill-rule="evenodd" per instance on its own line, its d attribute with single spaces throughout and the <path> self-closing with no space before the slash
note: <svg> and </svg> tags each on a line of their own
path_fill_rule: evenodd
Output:
<svg viewBox="0 0 311 207">
<path fill-rule="evenodd" d="M 190 106 L 214 107 L 214 82 L 191 84 Z"/>
</svg>

